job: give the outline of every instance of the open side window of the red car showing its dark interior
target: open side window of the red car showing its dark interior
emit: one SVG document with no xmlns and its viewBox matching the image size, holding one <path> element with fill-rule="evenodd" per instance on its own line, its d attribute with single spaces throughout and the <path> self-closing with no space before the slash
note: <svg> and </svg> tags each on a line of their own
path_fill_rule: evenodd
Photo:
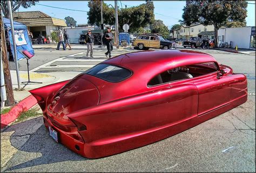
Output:
<svg viewBox="0 0 256 173">
<path fill-rule="evenodd" d="M 149 81 L 147 86 L 151 87 L 155 85 L 165 84 L 167 82 L 195 78 L 199 77 L 200 75 L 213 73 L 217 70 L 218 67 L 213 62 L 181 66 L 156 75 Z"/>
</svg>

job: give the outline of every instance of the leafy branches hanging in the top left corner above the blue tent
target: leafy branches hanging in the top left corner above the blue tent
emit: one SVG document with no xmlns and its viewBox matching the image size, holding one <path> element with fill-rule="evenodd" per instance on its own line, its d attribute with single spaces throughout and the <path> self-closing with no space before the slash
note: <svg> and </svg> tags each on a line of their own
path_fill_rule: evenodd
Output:
<svg viewBox="0 0 256 173">
<path fill-rule="evenodd" d="M 22 0 L 22 1 L 12 0 L 11 1 L 12 12 L 15 12 L 20 6 L 27 9 L 32 5 L 36 5 L 36 2 L 38 2 L 38 0 L 30 0 L 30 1 L 27 1 L 27 0 Z M 3 10 L 4 16 L 9 17 L 7 1 L 1 1 L 1 9 Z"/>
</svg>

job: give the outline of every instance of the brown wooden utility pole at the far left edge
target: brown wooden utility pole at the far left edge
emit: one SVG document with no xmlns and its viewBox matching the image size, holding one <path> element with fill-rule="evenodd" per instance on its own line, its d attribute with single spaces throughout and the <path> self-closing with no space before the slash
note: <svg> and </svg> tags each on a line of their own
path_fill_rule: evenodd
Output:
<svg viewBox="0 0 256 173">
<path fill-rule="evenodd" d="M 1 26 L 1 30 L 2 30 L 1 31 L 1 53 L 2 53 L 1 56 L 2 56 L 2 58 L 1 58 L 1 61 L 3 63 L 4 82 L 5 82 L 5 89 L 6 89 L 5 105 L 11 106 L 11 105 L 15 104 L 15 100 L 14 100 L 14 91 L 12 90 L 11 73 L 10 73 L 10 68 L 9 68 L 10 66 L 9 66 L 7 49 L 6 49 L 4 20 L 3 20 L 3 11 L 2 10 L 1 10 L 1 20 L 2 20 L 2 26 Z M 1 88 L 2 88 L 2 86 L 1 86 Z"/>
</svg>

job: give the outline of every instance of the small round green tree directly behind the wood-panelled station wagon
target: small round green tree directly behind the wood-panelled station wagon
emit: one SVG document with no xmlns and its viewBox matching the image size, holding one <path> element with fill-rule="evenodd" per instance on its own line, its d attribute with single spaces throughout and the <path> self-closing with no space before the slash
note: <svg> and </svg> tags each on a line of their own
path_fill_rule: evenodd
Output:
<svg viewBox="0 0 256 173">
<path fill-rule="evenodd" d="M 165 26 L 162 20 L 154 20 L 154 23 L 150 25 L 150 29 L 152 33 L 159 33 L 164 38 L 168 38 L 170 35 L 168 27 Z"/>
</svg>

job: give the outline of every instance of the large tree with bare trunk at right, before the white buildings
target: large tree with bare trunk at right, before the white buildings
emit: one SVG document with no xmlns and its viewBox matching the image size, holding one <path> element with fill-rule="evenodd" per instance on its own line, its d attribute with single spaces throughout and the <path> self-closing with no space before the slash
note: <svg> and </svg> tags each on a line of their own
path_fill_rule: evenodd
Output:
<svg viewBox="0 0 256 173">
<path fill-rule="evenodd" d="M 217 47 L 218 30 L 228 22 L 246 23 L 247 2 L 240 1 L 192 1 L 183 9 L 183 22 L 214 26 L 215 47 Z"/>
</svg>

